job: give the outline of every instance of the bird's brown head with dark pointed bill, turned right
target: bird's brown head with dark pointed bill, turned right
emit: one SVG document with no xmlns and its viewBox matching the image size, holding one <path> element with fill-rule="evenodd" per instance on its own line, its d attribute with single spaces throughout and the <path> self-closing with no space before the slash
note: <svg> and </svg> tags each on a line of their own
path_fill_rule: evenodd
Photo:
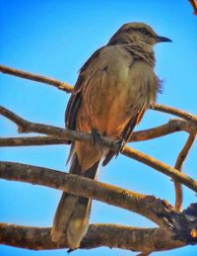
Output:
<svg viewBox="0 0 197 256">
<path fill-rule="evenodd" d="M 144 23 L 127 23 L 124 24 L 110 39 L 108 44 L 121 43 L 155 43 L 171 42 L 169 39 L 160 37 L 154 30 Z"/>
</svg>

